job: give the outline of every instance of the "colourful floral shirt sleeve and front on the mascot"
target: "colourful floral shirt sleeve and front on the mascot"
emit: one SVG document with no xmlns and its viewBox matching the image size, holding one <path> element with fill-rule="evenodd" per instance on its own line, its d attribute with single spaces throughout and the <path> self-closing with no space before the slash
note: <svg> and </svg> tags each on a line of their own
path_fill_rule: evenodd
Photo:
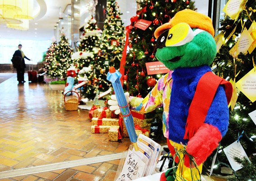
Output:
<svg viewBox="0 0 256 181">
<path fill-rule="evenodd" d="M 168 138 L 169 135 L 168 121 L 172 88 L 172 72 L 173 71 L 169 71 L 169 73 L 162 76 L 155 87 L 144 99 L 130 96 L 130 108 L 132 110 L 138 110 L 141 113 L 148 113 L 163 106 L 163 133 L 166 138 Z"/>
</svg>

